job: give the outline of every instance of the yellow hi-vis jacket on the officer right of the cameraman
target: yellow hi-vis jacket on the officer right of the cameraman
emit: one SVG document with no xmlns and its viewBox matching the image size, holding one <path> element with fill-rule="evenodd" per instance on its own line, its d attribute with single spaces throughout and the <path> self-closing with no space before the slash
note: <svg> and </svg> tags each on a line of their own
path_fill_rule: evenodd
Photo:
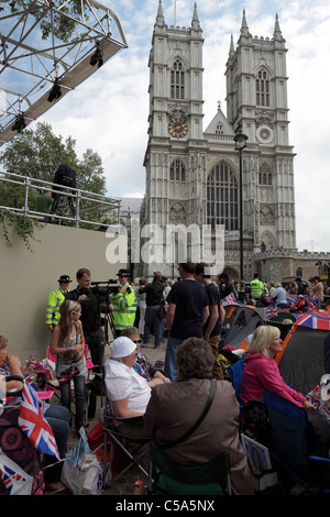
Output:
<svg viewBox="0 0 330 517">
<path fill-rule="evenodd" d="M 127 327 L 132 327 L 138 307 L 138 298 L 133 287 L 127 284 L 123 293 L 112 293 L 110 302 L 113 305 L 112 316 L 116 330 L 121 331 Z"/>
</svg>

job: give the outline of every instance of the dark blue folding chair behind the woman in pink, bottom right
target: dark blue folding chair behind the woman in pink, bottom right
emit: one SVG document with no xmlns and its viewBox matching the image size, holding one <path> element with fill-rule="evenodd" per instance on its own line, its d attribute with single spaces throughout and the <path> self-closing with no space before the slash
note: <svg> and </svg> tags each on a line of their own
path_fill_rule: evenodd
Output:
<svg viewBox="0 0 330 517">
<path fill-rule="evenodd" d="M 307 493 L 330 494 L 330 460 L 309 454 L 304 408 L 263 391 L 272 431 L 271 454 Z M 322 470 L 323 475 L 319 475 Z"/>
</svg>

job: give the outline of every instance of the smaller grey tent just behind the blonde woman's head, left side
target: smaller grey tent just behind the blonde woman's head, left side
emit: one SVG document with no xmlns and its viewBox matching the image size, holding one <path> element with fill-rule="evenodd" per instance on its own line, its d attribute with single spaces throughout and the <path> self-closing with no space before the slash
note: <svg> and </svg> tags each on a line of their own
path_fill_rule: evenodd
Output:
<svg viewBox="0 0 330 517">
<path fill-rule="evenodd" d="M 253 333 L 258 324 L 263 324 L 264 320 L 265 309 L 263 308 L 250 306 L 237 307 L 223 346 L 230 345 L 233 349 L 241 348 L 242 342 L 248 336 Z"/>
</svg>

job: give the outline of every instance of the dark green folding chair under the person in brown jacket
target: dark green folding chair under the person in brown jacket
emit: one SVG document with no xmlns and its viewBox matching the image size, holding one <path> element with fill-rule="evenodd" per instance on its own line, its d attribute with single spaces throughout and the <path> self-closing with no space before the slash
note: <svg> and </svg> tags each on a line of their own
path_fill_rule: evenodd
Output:
<svg viewBox="0 0 330 517">
<path fill-rule="evenodd" d="M 152 441 L 148 479 L 152 495 L 231 495 L 228 452 L 207 463 L 179 465 Z"/>
</svg>

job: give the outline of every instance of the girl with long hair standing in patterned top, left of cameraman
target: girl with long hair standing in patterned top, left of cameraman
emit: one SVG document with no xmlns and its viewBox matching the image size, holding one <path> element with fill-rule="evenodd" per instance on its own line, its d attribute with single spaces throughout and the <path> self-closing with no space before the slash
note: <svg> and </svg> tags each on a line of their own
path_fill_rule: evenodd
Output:
<svg viewBox="0 0 330 517">
<path fill-rule="evenodd" d="M 61 387 L 62 405 L 70 410 L 72 378 L 75 386 L 76 417 L 75 428 L 79 431 L 84 420 L 85 376 L 85 338 L 82 332 L 81 306 L 78 301 L 65 300 L 59 309 L 61 319 L 54 328 L 51 352 L 56 354 L 56 375 Z"/>
</svg>

